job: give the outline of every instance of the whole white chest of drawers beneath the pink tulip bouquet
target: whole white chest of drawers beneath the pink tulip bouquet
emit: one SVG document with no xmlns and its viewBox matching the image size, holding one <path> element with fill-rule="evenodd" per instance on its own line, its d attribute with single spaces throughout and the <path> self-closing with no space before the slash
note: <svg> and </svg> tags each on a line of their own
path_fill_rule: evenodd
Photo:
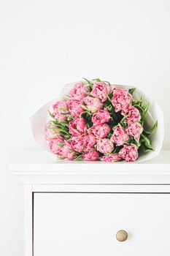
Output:
<svg viewBox="0 0 170 256">
<path fill-rule="evenodd" d="M 16 155 L 10 170 L 25 187 L 25 256 L 170 255 L 170 151 L 141 164 Z"/>
</svg>

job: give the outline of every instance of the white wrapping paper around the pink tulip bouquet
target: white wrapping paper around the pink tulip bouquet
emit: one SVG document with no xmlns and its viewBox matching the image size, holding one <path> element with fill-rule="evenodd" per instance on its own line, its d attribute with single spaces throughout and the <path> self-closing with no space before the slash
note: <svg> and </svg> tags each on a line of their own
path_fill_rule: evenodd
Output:
<svg viewBox="0 0 170 256">
<path fill-rule="evenodd" d="M 77 83 L 77 82 L 75 82 Z M 39 144 L 43 149 L 50 151 L 47 141 L 45 140 L 45 124 L 47 122 L 48 110 L 52 107 L 52 105 L 58 101 L 58 99 L 62 99 L 65 94 L 69 94 L 69 91 L 73 88 L 75 83 L 66 84 L 63 86 L 63 90 L 61 91 L 60 97 L 47 102 L 42 106 L 39 110 L 31 116 L 31 127 L 36 143 Z M 122 85 L 114 85 L 116 87 L 123 87 L 125 89 L 130 89 L 132 86 L 122 86 Z M 153 157 L 158 156 L 161 151 L 164 137 L 164 123 L 163 123 L 163 111 L 159 107 L 158 103 L 153 101 L 150 97 L 147 97 L 142 90 L 137 89 L 134 91 L 134 99 L 142 99 L 149 101 L 150 106 L 147 112 L 147 116 L 145 119 L 145 124 L 147 124 L 147 128 L 150 129 L 156 120 L 158 120 L 158 128 L 153 135 L 150 135 L 150 142 L 152 147 L 155 149 L 154 151 L 148 151 L 146 153 L 142 153 L 139 159 L 136 162 L 143 162 L 152 159 Z M 147 118 L 150 117 L 150 118 Z"/>
</svg>

